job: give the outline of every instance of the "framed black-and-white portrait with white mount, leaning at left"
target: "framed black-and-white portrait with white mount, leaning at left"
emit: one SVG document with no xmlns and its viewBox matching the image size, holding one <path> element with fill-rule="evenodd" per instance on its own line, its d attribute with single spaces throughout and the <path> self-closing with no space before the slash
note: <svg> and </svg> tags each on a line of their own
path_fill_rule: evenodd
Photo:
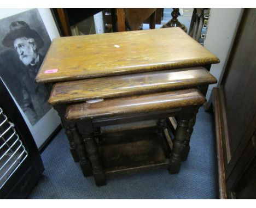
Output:
<svg viewBox="0 0 256 208">
<path fill-rule="evenodd" d="M 60 34 L 50 9 L 0 9 L 0 26 L 0 76 L 40 148 L 61 121 L 34 78 Z"/>
</svg>

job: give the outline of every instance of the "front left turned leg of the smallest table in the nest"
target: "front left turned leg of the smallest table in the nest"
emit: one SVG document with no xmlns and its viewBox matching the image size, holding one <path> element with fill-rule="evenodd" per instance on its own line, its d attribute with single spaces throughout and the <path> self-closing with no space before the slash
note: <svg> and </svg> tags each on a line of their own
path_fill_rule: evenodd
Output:
<svg viewBox="0 0 256 208">
<path fill-rule="evenodd" d="M 90 120 L 78 121 L 78 130 L 82 134 L 85 142 L 85 148 L 92 165 L 92 173 L 97 186 L 106 185 L 107 180 L 101 165 L 100 156 L 98 155 L 97 144 L 94 138 L 94 130 Z"/>
</svg>

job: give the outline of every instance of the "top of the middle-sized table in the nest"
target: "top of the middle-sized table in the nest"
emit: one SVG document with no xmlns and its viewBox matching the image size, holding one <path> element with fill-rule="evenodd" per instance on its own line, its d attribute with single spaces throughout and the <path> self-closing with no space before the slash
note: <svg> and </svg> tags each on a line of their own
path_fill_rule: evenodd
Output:
<svg viewBox="0 0 256 208">
<path fill-rule="evenodd" d="M 156 91 L 195 87 L 216 83 L 210 72 L 196 68 L 164 70 L 132 75 L 82 79 L 56 83 L 51 91 L 51 105 L 91 99 L 128 96 Z"/>
</svg>

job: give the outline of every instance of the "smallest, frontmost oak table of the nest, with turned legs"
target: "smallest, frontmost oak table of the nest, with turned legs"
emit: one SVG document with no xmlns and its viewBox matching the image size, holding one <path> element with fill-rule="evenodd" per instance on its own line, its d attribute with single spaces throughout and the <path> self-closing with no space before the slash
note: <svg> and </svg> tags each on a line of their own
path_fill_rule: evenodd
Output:
<svg viewBox="0 0 256 208">
<path fill-rule="evenodd" d="M 190 120 L 205 101 L 205 97 L 198 89 L 117 97 L 96 103 L 82 102 L 69 105 L 66 119 L 77 125 L 85 141 L 96 185 L 102 186 L 106 185 L 106 175 L 159 168 L 167 168 L 171 174 L 178 173 L 181 168 L 184 141 L 190 139 L 191 134 L 188 132 L 194 126 L 189 124 Z M 157 125 L 155 131 L 152 131 L 153 128 L 139 126 L 136 136 L 129 133 L 125 139 L 122 135 L 118 142 L 113 142 L 115 138 L 108 138 L 109 141 L 100 140 L 98 145 L 101 149 L 98 151 L 94 127 L 99 125 L 98 123 L 104 126 L 102 119 L 121 118 L 121 123 L 124 124 L 129 117 L 137 117 L 144 121 L 168 116 L 176 116 L 178 123 L 173 140 L 168 140 L 171 145 L 167 145 L 167 138 L 163 137 L 164 126 Z M 141 132 L 143 129 L 150 131 L 151 135 L 146 136 L 146 133 Z M 143 136 L 146 138 L 141 139 Z"/>
</svg>

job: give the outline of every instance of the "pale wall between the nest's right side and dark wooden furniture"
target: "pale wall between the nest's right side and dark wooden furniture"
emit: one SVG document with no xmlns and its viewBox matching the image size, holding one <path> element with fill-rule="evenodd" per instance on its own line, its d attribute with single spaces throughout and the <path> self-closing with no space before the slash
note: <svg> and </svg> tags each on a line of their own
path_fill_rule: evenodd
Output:
<svg viewBox="0 0 256 208">
<path fill-rule="evenodd" d="M 218 81 L 229 58 L 242 11 L 243 9 L 211 9 L 204 46 L 220 60 L 219 64 L 213 64 L 211 67 L 211 74 Z M 216 86 L 217 84 L 209 86 L 207 99 L 211 95 L 212 88 Z"/>
</svg>

